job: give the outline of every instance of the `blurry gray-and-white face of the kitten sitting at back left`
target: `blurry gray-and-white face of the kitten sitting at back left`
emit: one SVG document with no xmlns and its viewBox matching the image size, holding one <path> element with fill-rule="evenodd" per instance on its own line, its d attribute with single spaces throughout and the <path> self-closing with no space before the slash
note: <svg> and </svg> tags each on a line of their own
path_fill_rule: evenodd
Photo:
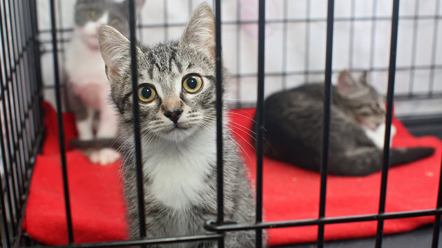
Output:
<svg viewBox="0 0 442 248">
<path fill-rule="evenodd" d="M 137 9 L 143 1 L 137 1 Z M 128 33 L 127 0 L 77 0 L 75 3 L 75 30 L 77 35 L 92 49 L 98 49 L 99 25 L 111 25 Z"/>
</svg>

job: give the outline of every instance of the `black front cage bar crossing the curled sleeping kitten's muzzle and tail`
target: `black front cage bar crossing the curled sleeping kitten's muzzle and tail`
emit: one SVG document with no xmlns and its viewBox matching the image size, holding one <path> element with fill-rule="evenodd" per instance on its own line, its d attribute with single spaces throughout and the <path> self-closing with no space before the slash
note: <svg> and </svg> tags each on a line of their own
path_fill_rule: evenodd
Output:
<svg viewBox="0 0 442 248">
<path fill-rule="evenodd" d="M 379 196 L 379 214 L 385 212 L 385 198 L 387 194 L 388 164 L 390 161 L 390 134 L 392 131 L 393 98 L 394 98 L 394 77 L 396 76 L 396 49 L 398 42 L 398 20 L 399 20 L 399 0 L 393 0 L 392 13 L 392 37 L 390 43 L 390 65 L 388 68 L 388 90 L 387 90 L 387 114 L 385 120 L 385 138 L 383 149 L 383 165 L 381 177 L 381 194 Z M 382 247 L 383 219 L 378 220 L 376 231 L 376 248 Z"/>
</svg>

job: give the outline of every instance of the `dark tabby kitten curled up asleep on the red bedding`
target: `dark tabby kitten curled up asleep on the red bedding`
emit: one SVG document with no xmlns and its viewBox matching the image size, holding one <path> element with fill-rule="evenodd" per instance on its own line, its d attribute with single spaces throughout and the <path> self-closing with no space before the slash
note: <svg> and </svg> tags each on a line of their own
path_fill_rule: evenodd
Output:
<svg viewBox="0 0 442 248">
<path fill-rule="evenodd" d="M 319 171 L 323 92 L 323 83 L 311 83 L 265 99 L 267 156 Z M 330 111 L 329 174 L 364 176 L 380 171 L 385 101 L 367 83 L 366 73 L 359 80 L 347 71 L 340 73 L 337 87 L 332 86 Z M 392 135 L 395 131 L 392 126 Z M 427 147 L 390 149 L 390 166 L 410 163 L 433 152 Z"/>
</svg>

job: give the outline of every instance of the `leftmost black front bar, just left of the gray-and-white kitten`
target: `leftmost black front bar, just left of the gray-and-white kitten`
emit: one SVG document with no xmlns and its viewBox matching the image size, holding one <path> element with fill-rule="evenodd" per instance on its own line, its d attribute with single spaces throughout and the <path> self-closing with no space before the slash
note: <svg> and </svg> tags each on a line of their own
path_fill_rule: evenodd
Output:
<svg viewBox="0 0 442 248">
<path fill-rule="evenodd" d="M 64 124 L 61 113 L 61 96 L 60 96 L 60 79 L 59 79 L 59 63 L 58 63 L 58 48 L 57 48 L 57 23 L 55 23 L 55 0 L 50 0 L 50 25 L 52 32 L 52 49 L 54 61 L 54 81 L 55 81 L 55 101 L 57 104 L 57 123 L 58 123 L 58 138 L 59 149 L 61 157 L 61 170 L 63 174 L 63 189 L 64 189 L 64 205 L 66 207 L 66 223 L 68 226 L 68 240 L 72 244 L 74 242 L 74 234 L 72 228 L 72 219 L 70 213 L 70 197 L 68 185 L 68 169 L 66 166 L 66 154 L 64 147 Z"/>
</svg>

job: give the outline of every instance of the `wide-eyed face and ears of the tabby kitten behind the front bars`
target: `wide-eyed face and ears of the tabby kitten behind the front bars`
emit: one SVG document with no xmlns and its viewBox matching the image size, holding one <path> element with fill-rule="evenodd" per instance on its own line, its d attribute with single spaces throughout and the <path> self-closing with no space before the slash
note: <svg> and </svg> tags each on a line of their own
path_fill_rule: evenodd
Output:
<svg viewBox="0 0 442 248">
<path fill-rule="evenodd" d="M 128 39 L 113 28 L 99 30 L 99 47 L 122 121 L 133 124 Z M 215 128 L 213 13 L 202 4 L 179 42 L 137 48 L 140 127 L 147 140 L 159 136 L 179 142 Z"/>
</svg>

